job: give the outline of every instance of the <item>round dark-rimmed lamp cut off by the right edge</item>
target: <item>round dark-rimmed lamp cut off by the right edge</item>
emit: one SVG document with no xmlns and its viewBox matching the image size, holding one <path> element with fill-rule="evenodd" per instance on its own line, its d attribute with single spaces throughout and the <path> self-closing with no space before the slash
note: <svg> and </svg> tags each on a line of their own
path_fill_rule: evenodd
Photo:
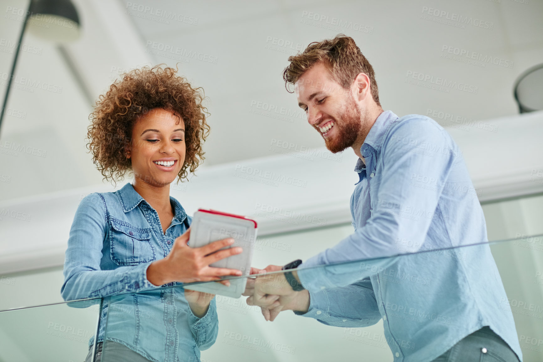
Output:
<svg viewBox="0 0 543 362">
<path fill-rule="evenodd" d="M 517 78 L 514 96 L 520 113 L 543 110 L 543 64 L 529 68 Z"/>
</svg>

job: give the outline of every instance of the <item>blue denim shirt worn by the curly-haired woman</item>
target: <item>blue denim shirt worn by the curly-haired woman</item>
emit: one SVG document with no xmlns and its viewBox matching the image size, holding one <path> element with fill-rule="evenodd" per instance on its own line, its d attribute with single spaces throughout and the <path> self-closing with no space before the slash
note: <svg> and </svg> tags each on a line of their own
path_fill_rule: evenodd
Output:
<svg viewBox="0 0 543 362">
<path fill-rule="evenodd" d="M 182 288 L 159 289 L 147 280 L 147 267 L 168 255 L 192 221 L 175 198 L 170 202 L 174 217 L 163 234 L 159 215 L 130 183 L 81 200 L 70 229 L 61 294 L 66 301 L 112 296 L 109 303 L 104 299 L 98 342 L 106 333 L 107 340 L 149 360 L 199 361 L 200 350 L 217 338 L 215 299 L 198 318 Z"/>
</svg>

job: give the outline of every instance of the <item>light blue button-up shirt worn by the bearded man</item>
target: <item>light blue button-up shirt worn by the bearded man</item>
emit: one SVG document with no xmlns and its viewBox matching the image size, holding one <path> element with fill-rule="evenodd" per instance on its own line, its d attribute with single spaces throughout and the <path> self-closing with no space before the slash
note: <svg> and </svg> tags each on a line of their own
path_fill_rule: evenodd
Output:
<svg viewBox="0 0 543 362">
<path fill-rule="evenodd" d="M 355 233 L 300 265 L 313 267 L 298 271 L 311 300 L 296 314 L 340 327 L 382 318 L 394 361 L 405 362 L 431 361 L 490 326 L 522 360 L 477 191 L 451 136 L 431 118 L 384 111 L 361 154 Z M 314 268 L 349 260 L 360 261 Z"/>
</svg>

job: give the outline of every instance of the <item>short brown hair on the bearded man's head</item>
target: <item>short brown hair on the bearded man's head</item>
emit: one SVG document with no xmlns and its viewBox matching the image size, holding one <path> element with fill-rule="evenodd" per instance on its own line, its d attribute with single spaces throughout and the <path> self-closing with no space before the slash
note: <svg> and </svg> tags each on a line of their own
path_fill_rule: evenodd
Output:
<svg viewBox="0 0 543 362">
<path fill-rule="evenodd" d="M 381 107 L 373 67 L 350 36 L 338 34 L 334 39 L 314 41 L 304 52 L 288 57 L 288 61 L 291 64 L 283 71 L 285 86 L 288 83 L 296 83 L 309 68 L 323 61 L 336 82 L 344 89 L 351 86 L 359 73 L 367 74 L 370 78 L 371 96 Z"/>
</svg>

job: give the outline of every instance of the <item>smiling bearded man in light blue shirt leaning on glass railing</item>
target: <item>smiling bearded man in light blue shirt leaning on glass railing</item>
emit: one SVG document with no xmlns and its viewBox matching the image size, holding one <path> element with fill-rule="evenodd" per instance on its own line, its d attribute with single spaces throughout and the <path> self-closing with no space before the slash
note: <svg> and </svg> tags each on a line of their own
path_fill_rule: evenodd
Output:
<svg viewBox="0 0 543 362">
<path fill-rule="evenodd" d="M 271 321 L 281 310 L 338 327 L 382 319 L 395 362 L 522 359 L 513 315 L 500 308 L 507 296 L 483 211 L 466 192 L 473 185 L 451 136 L 426 116 L 383 111 L 374 70 L 348 36 L 288 60 L 283 78 L 308 123 L 331 152 L 350 147 L 359 158 L 355 232 L 303 263 L 255 269 L 297 268 L 250 280 L 247 303 Z M 401 253 L 409 255 L 382 258 Z"/>
</svg>

